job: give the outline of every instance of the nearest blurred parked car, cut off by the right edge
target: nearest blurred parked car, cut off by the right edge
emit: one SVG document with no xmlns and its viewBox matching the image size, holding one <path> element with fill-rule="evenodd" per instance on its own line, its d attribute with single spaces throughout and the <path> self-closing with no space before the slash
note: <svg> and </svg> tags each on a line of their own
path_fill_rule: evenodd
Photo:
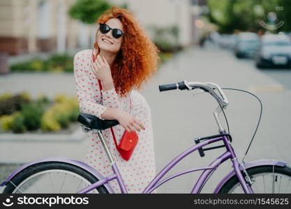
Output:
<svg viewBox="0 0 291 209">
<path fill-rule="evenodd" d="M 255 63 L 258 68 L 290 67 L 290 37 L 283 34 L 268 34 L 262 36 Z"/>
</svg>

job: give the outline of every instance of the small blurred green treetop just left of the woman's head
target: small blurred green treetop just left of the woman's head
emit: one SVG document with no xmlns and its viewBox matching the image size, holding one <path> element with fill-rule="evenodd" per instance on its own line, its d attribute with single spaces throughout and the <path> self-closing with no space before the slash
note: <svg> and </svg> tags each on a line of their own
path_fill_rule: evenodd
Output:
<svg viewBox="0 0 291 209">
<path fill-rule="evenodd" d="M 111 3 L 105 0 L 77 0 L 68 10 L 68 14 L 75 20 L 92 24 L 111 7 Z"/>
</svg>

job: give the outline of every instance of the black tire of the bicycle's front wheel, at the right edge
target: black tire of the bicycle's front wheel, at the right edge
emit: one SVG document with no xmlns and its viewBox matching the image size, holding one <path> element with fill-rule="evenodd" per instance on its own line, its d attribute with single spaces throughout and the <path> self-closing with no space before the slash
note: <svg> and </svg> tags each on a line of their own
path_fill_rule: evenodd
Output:
<svg viewBox="0 0 291 209">
<path fill-rule="evenodd" d="M 284 167 L 278 167 L 278 166 L 272 166 L 272 165 L 267 165 L 267 166 L 258 166 L 258 167 L 252 167 L 252 168 L 249 168 L 249 169 L 246 169 L 248 175 L 253 179 L 254 177 L 257 178 L 258 176 L 262 176 L 263 174 L 266 175 L 266 176 L 273 176 L 273 169 L 274 169 L 274 177 L 273 179 L 276 177 L 276 180 L 278 180 L 278 176 L 284 176 L 286 178 L 289 179 L 289 185 L 287 185 L 287 187 L 290 189 L 290 192 L 291 192 L 291 168 L 288 167 L 288 166 L 284 166 Z M 244 177 L 246 175 L 244 174 Z M 265 182 L 264 180 L 264 177 L 262 178 L 263 179 L 263 182 Z M 274 181 L 274 180 L 273 180 Z M 234 191 L 234 189 L 237 189 L 235 188 L 236 185 L 240 185 L 239 184 L 239 179 L 237 178 L 237 176 L 232 176 L 232 178 L 230 178 L 229 180 L 227 180 L 227 182 L 221 187 L 221 189 L 219 190 L 219 194 L 226 194 L 226 193 L 232 193 Z M 281 182 L 280 182 L 280 186 L 281 186 Z M 269 185 L 267 185 L 267 187 L 269 187 Z M 252 188 L 254 189 L 255 186 L 252 185 Z M 264 185 L 264 187 L 261 187 L 261 188 L 258 188 L 258 191 L 259 190 L 265 190 L 266 189 L 266 185 Z M 241 193 L 243 192 L 243 190 L 241 189 Z M 254 191 L 255 193 L 272 193 L 272 192 L 256 192 Z M 280 191 L 280 187 L 278 189 L 278 192 L 283 192 L 283 189 Z M 239 192 L 240 193 L 240 192 Z M 283 192 L 285 193 L 285 192 Z"/>
</svg>

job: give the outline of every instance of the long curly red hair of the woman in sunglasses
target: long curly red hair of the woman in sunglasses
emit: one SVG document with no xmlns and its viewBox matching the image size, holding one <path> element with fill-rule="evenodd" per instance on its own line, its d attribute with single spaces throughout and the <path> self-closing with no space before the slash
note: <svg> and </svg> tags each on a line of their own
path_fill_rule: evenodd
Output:
<svg viewBox="0 0 291 209">
<path fill-rule="evenodd" d="M 124 26 L 124 40 L 116 59 L 112 63 L 111 74 L 114 88 L 119 95 L 125 95 L 131 89 L 140 89 L 154 75 L 159 61 L 158 48 L 140 28 L 129 10 L 117 6 L 101 15 L 96 24 L 117 18 Z M 98 43 L 94 43 L 98 49 Z"/>
</svg>

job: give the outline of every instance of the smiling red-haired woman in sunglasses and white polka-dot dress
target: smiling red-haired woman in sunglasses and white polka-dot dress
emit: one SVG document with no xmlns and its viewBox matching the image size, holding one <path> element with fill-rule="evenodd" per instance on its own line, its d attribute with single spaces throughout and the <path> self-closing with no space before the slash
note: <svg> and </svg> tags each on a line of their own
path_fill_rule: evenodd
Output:
<svg viewBox="0 0 291 209">
<path fill-rule="evenodd" d="M 113 127 L 117 144 L 125 130 L 135 131 L 139 141 L 130 160 L 117 151 L 110 129 L 103 136 L 112 153 L 129 193 L 140 193 L 154 178 L 156 166 L 151 126 L 151 111 L 137 92 L 156 72 L 158 49 L 140 29 L 133 15 L 118 7 L 101 15 L 97 23 L 94 49 L 74 56 L 74 75 L 80 111 L 101 119 L 115 119 Z M 96 61 L 92 61 L 92 54 Z M 102 84 L 102 93 L 98 85 Z M 96 134 L 89 132 L 90 145 L 86 163 L 103 176 L 112 174 Z M 120 193 L 117 180 L 110 185 Z"/>
</svg>

